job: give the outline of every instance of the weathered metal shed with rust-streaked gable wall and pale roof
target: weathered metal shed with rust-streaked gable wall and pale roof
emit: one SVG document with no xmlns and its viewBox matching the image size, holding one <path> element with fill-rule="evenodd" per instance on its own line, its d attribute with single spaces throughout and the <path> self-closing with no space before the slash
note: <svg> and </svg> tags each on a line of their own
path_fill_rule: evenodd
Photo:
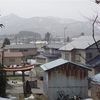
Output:
<svg viewBox="0 0 100 100">
<path fill-rule="evenodd" d="M 88 96 L 88 67 L 61 58 L 40 67 L 44 70 L 43 93 L 47 100 L 62 100 L 67 95 Z"/>
</svg>

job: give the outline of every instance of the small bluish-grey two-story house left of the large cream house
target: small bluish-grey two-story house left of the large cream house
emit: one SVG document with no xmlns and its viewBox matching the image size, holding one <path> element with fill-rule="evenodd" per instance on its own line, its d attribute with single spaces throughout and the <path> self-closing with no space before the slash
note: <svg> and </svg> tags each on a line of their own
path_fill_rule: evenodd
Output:
<svg viewBox="0 0 100 100">
<path fill-rule="evenodd" d="M 43 47 L 44 53 L 36 57 L 37 62 L 43 64 L 60 58 L 61 51 L 59 51 L 59 48 L 61 48 L 62 46 L 62 43 L 51 43 L 45 45 Z"/>
</svg>

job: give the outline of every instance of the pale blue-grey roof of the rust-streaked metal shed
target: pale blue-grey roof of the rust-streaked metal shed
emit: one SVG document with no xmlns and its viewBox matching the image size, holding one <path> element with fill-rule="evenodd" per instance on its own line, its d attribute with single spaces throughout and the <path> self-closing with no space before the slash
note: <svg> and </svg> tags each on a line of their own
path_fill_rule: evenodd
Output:
<svg viewBox="0 0 100 100">
<path fill-rule="evenodd" d="M 47 71 L 47 70 L 50 70 L 52 68 L 55 68 L 55 67 L 58 67 L 60 65 L 63 65 L 63 64 L 66 64 L 66 63 L 71 63 L 71 64 L 74 64 L 76 66 L 79 66 L 81 68 L 84 68 L 84 69 L 87 69 L 87 70 L 91 70 L 90 68 L 86 67 L 85 65 L 81 65 L 81 64 L 76 64 L 74 62 L 70 62 L 70 61 L 67 61 L 67 60 L 64 60 L 62 58 L 60 59 L 57 59 L 57 60 L 54 60 L 54 61 L 51 61 L 51 62 L 48 62 L 46 64 L 43 64 L 41 65 L 40 67 L 44 70 L 44 71 Z"/>
</svg>

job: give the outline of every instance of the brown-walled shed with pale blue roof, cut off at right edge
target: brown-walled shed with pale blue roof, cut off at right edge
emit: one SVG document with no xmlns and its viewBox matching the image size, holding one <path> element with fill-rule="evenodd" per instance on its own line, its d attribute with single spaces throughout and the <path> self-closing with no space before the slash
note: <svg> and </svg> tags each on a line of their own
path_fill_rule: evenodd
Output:
<svg viewBox="0 0 100 100">
<path fill-rule="evenodd" d="M 100 100 L 100 73 L 89 77 L 88 80 L 91 81 L 91 97 L 93 100 Z"/>
</svg>

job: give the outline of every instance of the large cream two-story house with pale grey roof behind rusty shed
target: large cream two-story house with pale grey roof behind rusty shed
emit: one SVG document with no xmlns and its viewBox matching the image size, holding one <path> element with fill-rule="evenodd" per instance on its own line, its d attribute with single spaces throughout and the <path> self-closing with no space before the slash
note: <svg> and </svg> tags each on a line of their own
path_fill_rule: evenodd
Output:
<svg viewBox="0 0 100 100">
<path fill-rule="evenodd" d="M 95 36 L 95 39 L 100 49 L 100 36 Z M 63 59 L 73 61 L 75 63 L 88 64 L 89 67 L 94 67 L 93 69 L 99 65 L 98 68 L 100 69 L 100 53 L 97 49 L 96 43 L 92 36 L 81 36 L 61 47 L 59 50 L 61 51 L 61 56 Z M 96 63 L 97 65 L 95 64 L 94 66 L 93 63 L 89 63 L 90 61 L 95 61 L 95 63 L 98 63 Z M 94 73 L 96 70 L 93 70 Z"/>
</svg>

